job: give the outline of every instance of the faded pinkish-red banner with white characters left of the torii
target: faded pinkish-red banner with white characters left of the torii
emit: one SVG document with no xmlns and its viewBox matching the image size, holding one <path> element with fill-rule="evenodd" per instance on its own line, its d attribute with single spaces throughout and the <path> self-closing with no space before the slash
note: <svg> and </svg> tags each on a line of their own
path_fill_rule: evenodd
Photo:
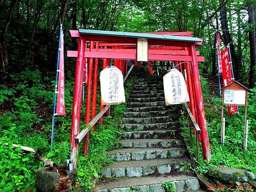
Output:
<svg viewBox="0 0 256 192">
<path fill-rule="evenodd" d="M 65 115 L 65 83 L 64 83 L 64 34 L 61 31 L 61 47 L 58 68 L 58 96 L 57 96 L 57 115 Z"/>
</svg>

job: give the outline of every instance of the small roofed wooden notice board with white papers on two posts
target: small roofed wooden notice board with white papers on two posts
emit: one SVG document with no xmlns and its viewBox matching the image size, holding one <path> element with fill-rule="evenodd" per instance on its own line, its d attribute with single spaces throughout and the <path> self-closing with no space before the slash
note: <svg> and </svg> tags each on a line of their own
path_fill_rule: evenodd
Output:
<svg viewBox="0 0 256 192">
<path fill-rule="evenodd" d="M 237 81 L 233 81 L 222 89 L 222 109 L 221 109 L 221 144 L 224 145 L 225 137 L 225 121 L 224 121 L 224 105 L 237 105 L 245 107 L 244 114 L 244 145 L 243 149 L 247 148 L 247 134 L 248 134 L 248 124 L 247 124 L 247 95 L 249 89 L 244 87 Z"/>
</svg>

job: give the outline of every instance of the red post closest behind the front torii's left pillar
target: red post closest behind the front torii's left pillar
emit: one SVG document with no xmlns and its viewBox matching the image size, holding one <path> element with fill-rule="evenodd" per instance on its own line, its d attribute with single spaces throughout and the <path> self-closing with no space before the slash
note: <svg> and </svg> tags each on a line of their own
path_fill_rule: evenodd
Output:
<svg viewBox="0 0 256 192">
<path fill-rule="evenodd" d="M 93 50 L 93 41 L 90 41 L 89 50 Z M 89 58 L 88 62 L 88 79 L 87 79 L 87 94 L 86 94 L 86 110 L 85 110 L 85 123 L 90 122 L 90 100 L 92 88 L 92 73 L 93 73 L 93 58 Z M 84 154 L 88 154 L 89 133 L 84 137 Z"/>
</svg>

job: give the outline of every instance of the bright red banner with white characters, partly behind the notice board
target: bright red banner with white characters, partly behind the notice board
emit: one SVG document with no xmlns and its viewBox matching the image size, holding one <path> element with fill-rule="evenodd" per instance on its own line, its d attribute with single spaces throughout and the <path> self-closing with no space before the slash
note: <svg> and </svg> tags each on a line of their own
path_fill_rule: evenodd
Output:
<svg viewBox="0 0 256 192">
<path fill-rule="evenodd" d="M 226 87 L 228 84 L 233 82 L 231 65 L 230 65 L 230 55 L 228 48 L 221 51 L 221 62 L 222 62 L 222 79 L 223 85 Z M 236 105 L 228 106 L 228 114 L 237 113 Z"/>
</svg>

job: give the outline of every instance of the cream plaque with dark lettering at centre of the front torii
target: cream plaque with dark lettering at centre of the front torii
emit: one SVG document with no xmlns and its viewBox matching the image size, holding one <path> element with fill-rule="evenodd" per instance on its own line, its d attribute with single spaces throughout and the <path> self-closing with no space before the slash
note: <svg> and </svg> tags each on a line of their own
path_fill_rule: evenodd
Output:
<svg viewBox="0 0 256 192">
<path fill-rule="evenodd" d="M 148 39 L 138 38 L 137 61 L 148 61 Z"/>
</svg>

